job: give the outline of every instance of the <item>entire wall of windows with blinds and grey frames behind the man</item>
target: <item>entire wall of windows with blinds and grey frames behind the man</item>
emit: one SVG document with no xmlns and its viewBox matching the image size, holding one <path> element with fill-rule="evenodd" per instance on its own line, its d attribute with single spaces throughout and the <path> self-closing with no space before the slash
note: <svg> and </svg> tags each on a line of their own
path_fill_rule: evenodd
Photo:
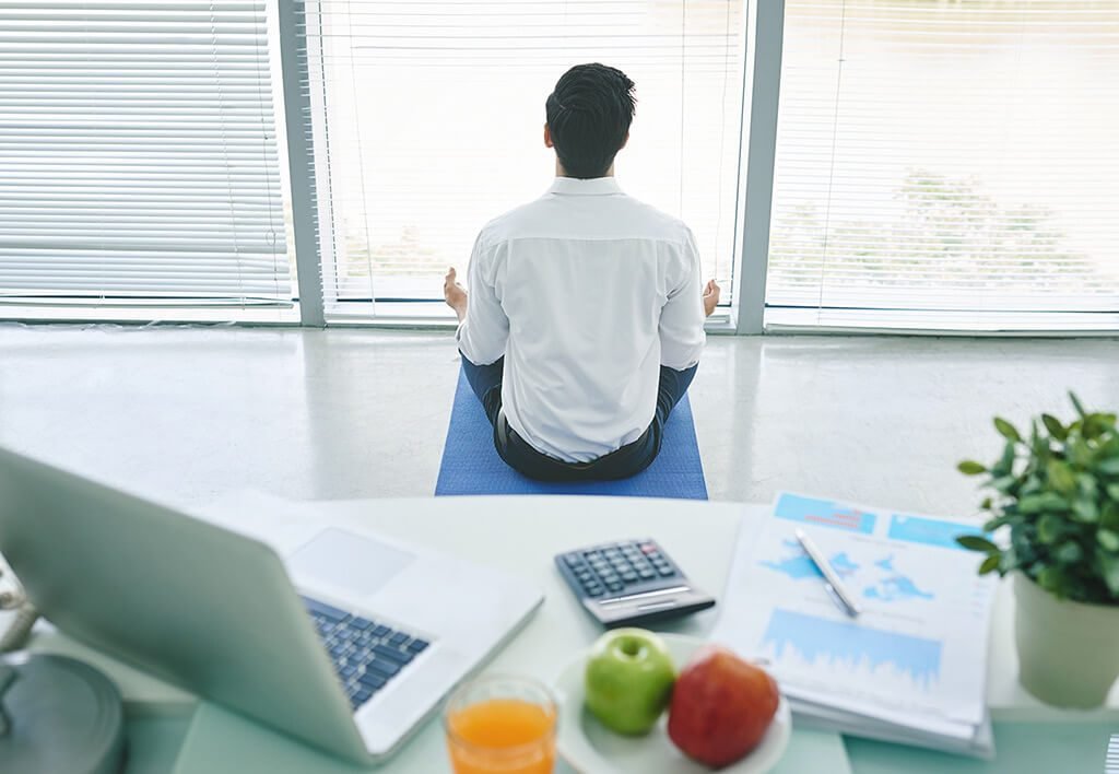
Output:
<svg viewBox="0 0 1119 774">
<path fill-rule="evenodd" d="M 449 323 L 585 62 L 713 326 L 1119 330 L 1119 0 L 8 0 L 0 317 Z"/>
</svg>

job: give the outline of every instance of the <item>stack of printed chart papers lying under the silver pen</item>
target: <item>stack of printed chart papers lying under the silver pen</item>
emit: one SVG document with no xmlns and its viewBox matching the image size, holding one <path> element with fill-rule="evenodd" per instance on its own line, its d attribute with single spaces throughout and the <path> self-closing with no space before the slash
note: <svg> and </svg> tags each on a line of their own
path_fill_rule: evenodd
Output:
<svg viewBox="0 0 1119 774">
<path fill-rule="evenodd" d="M 751 522 L 753 525 L 753 522 Z M 803 530 L 862 613 L 824 587 Z M 956 538 L 972 523 L 780 494 L 742 529 L 712 637 L 769 669 L 802 719 L 975 755 L 991 750 L 987 641 L 995 578 Z"/>
</svg>

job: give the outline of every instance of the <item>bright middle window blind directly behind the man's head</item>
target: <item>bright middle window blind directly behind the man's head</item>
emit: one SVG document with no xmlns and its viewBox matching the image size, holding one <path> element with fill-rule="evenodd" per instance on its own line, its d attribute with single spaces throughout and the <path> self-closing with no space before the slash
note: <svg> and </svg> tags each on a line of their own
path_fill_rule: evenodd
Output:
<svg viewBox="0 0 1119 774">
<path fill-rule="evenodd" d="M 568 67 L 587 62 L 637 84 L 622 187 L 683 217 L 705 273 L 730 278 L 742 0 L 307 0 L 303 9 L 317 192 L 329 205 L 320 217 L 328 310 L 441 298 L 443 272 L 463 273 L 478 231 L 551 184 L 544 102 Z"/>
</svg>

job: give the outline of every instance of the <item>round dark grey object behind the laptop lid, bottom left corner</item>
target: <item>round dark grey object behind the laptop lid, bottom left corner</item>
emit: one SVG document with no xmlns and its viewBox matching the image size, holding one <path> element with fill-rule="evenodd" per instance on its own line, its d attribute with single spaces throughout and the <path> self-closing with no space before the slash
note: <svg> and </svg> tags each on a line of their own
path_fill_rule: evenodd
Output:
<svg viewBox="0 0 1119 774">
<path fill-rule="evenodd" d="M 0 661 L 0 772 L 117 774 L 121 694 L 88 664 L 60 655 Z"/>
</svg>

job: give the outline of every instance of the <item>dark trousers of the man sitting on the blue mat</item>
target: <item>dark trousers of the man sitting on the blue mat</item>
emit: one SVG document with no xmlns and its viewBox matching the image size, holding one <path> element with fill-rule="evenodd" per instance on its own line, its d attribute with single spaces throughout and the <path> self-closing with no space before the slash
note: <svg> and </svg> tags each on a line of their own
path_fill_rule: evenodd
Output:
<svg viewBox="0 0 1119 774">
<path fill-rule="evenodd" d="M 461 354 L 461 353 L 460 353 Z M 489 365 L 476 365 L 462 356 L 462 370 L 486 416 L 493 427 L 493 446 L 506 465 L 514 470 L 549 482 L 611 481 L 628 478 L 652 464 L 664 441 L 665 422 L 679 403 L 696 375 L 693 365 L 684 371 L 660 366 L 657 388 L 657 408 L 645 433 L 632 444 L 603 455 L 590 463 L 565 463 L 538 451 L 509 427 L 501 411 L 501 381 L 505 358 Z"/>
</svg>

